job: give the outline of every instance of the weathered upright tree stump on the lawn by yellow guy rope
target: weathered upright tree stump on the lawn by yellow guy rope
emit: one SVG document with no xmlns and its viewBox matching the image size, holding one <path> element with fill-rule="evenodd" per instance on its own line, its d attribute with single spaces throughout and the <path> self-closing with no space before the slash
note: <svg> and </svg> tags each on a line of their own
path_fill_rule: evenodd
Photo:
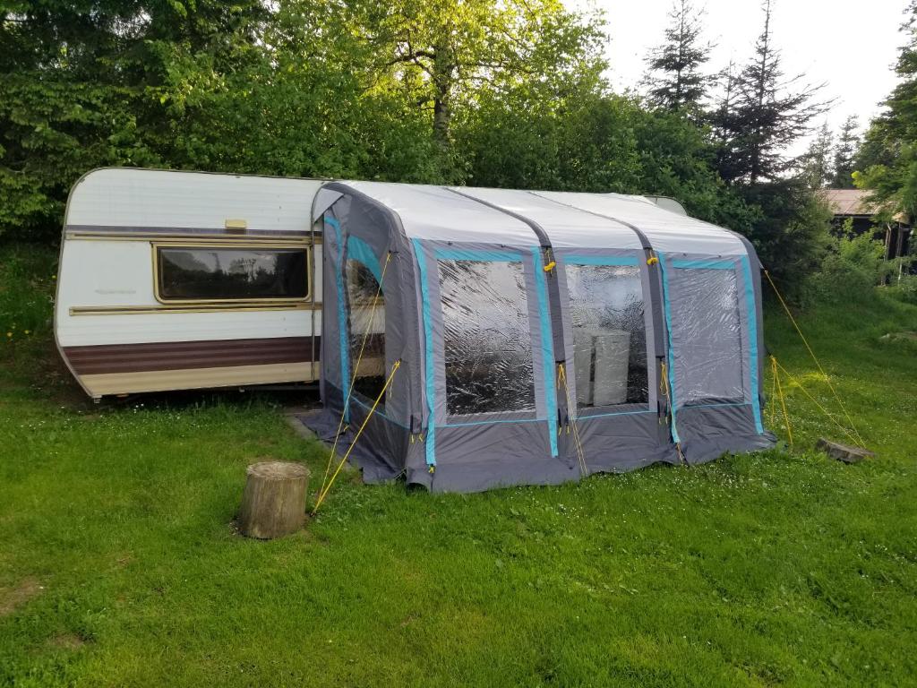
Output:
<svg viewBox="0 0 917 688">
<path fill-rule="evenodd" d="M 281 538 L 303 527 L 309 472 L 290 461 L 261 461 L 246 471 L 238 528 L 249 538 Z"/>
</svg>

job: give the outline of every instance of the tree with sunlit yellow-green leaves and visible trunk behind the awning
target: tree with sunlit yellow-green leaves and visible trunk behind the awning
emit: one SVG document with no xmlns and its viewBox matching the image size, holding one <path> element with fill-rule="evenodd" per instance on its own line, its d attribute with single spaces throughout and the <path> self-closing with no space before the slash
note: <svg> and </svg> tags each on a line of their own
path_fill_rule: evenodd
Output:
<svg viewBox="0 0 917 688">
<path fill-rule="evenodd" d="M 469 117 L 482 98 L 536 90 L 550 100 L 570 81 L 599 83 L 604 67 L 597 20 L 568 12 L 560 0 L 363 0 L 348 11 L 371 47 L 371 81 L 428 113 L 443 181 L 464 176 L 454 120 Z"/>
</svg>

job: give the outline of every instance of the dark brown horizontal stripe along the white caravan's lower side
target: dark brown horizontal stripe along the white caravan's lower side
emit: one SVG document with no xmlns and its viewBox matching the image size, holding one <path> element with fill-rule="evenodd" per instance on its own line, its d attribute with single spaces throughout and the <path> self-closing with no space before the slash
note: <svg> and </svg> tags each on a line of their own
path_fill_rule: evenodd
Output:
<svg viewBox="0 0 917 688">
<path fill-rule="evenodd" d="M 321 338 L 315 337 L 315 358 Z M 63 347 L 78 375 L 310 362 L 313 338 L 206 339 Z"/>
</svg>

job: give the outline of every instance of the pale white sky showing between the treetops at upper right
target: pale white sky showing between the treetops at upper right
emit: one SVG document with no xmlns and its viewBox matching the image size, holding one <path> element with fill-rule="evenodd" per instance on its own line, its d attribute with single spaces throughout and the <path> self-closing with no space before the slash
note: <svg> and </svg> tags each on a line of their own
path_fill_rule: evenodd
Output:
<svg viewBox="0 0 917 688">
<path fill-rule="evenodd" d="M 672 0 L 567 0 L 571 8 L 602 9 L 611 41 L 606 54 L 616 91 L 634 88 L 645 72 L 646 51 L 662 40 Z M 784 72 L 826 83 L 834 98 L 828 124 L 835 131 L 848 115 L 861 127 L 895 85 L 892 71 L 904 36 L 899 32 L 908 0 L 774 0 L 773 38 Z M 705 38 L 713 41 L 708 63 L 719 70 L 746 61 L 764 14 L 760 0 L 694 0 L 704 7 Z M 822 120 L 823 121 L 823 120 Z M 817 124 L 820 126 L 822 121 Z"/>
</svg>

